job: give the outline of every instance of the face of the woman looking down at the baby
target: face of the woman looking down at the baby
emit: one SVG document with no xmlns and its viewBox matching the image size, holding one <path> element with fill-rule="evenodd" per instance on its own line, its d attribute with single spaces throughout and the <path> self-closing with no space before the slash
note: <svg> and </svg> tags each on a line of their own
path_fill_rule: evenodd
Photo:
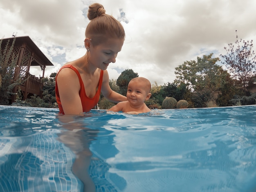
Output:
<svg viewBox="0 0 256 192">
<path fill-rule="evenodd" d="M 93 40 L 88 52 L 88 63 L 106 70 L 109 63 L 115 63 L 119 51 L 124 44 L 124 39 L 110 38 L 106 42 L 93 46 Z"/>
</svg>

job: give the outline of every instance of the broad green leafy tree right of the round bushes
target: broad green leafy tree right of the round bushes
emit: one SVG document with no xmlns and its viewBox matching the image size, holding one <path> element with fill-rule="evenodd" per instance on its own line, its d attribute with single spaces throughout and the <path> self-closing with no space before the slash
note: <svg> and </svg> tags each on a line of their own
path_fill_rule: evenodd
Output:
<svg viewBox="0 0 256 192">
<path fill-rule="evenodd" d="M 211 58 L 213 54 L 198 57 L 197 61 L 186 61 L 182 65 L 175 68 L 176 79 L 175 83 L 181 85 L 186 84 L 189 91 L 184 92 L 182 99 L 189 102 L 189 107 L 204 107 L 208 100 L 214 98 L 213 92 L 222 91 L 225 87 L 225 92 L 218 101 L 221 105 L 228 103 L 233 98 L 234 91 L 231 90 L 230 74 L 217 65 L 219 58 Z M 229 84 L 227 84 L 229 80 Z"/>
</svg>

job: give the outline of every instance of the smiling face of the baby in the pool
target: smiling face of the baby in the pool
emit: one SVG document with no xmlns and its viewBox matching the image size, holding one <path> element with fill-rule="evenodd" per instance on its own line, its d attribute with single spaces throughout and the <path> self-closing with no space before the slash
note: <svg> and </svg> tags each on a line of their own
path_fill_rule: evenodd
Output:
<svg viewBox="0 0 256 192">
<path fill-rule="evenodd" d="M 145 83 L 140 81 L 130 81 L 126 93 L 127 100 L 133 107 L 141 106 L 145 100 L 148 100 L 150 94 L 145 90 Z"/>
</svg>

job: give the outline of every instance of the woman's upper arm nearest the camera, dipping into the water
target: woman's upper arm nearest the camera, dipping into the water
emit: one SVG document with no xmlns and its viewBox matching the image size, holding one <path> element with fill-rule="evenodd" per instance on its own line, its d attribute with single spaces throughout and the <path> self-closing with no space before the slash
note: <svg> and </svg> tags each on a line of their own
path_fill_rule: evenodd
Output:
<svg viewBox="0 0 256 192">
<path fill-rule="evenodd" d="M 83 107 L 79 96 L 80 84 L 76 72 L 70 68 L 61 69 L 56 81 L 65 115 L 82 114 Z"/>
</svg>

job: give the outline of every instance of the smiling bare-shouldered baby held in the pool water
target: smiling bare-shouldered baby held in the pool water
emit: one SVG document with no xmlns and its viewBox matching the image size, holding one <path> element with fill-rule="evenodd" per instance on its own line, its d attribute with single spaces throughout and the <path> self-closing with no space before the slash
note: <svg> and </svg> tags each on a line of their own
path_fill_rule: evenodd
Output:
<svg viewBox="0 0 256 192">
<path fill-rule="evenodd" d="M 128 114 L 140 114 L 150 112 L 150 109 L 144 103 L 151 96 L 151 84 L 144 77 L 135 77 L 130 80 L 127 89 L 127 101 L 117 103 L 117 105 L 108 109 L 113 112 L 125 112 Z"/>
</svg>

